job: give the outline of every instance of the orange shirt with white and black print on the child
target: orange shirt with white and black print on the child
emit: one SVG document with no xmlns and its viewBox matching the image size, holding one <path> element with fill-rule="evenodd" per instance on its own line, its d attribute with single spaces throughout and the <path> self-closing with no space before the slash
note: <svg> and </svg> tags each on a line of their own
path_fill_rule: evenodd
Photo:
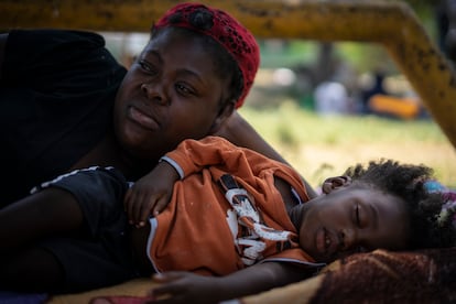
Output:
<svg viewBox="0 0 456 304">
<path fill-rule="evenodd" d="M 186 140 L 167 153 L 183 180 L 167 208 L 151 218 L 149 258 L 156 271 L 186 270 L 226 275 L 265 260 L 313 263 L 297 243 L 274 175 L 308 200 L 290 166 L 251 150 L 208 137 Z M 228 173 L 240 188 L 225 192 Z"/>
</svg>

